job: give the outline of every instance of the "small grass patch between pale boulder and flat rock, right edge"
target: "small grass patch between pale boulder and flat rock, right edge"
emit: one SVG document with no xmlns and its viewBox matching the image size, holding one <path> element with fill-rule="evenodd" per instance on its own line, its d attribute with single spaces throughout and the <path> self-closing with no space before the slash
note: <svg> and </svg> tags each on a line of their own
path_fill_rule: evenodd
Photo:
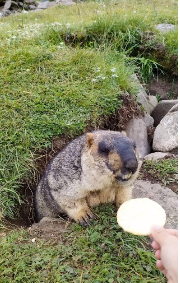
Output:
<svg viewBox="0 0 180 283">
<path fill-rule="evenodd" d="M 164 185 L 178 184 L 178 158 L 156 161 L 145 160 L 141 174 L 145 176 L 150 174 Z"/>
</svg>

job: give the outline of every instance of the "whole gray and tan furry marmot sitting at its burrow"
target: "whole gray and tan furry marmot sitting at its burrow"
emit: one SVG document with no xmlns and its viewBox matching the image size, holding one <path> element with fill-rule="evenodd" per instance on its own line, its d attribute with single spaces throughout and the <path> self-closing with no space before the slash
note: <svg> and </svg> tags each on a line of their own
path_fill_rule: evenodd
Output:
<svg viewBox="0 0 180 283">
<path fill-rule="evenodd" d="M 35 194 L 36 220 L 67 214 L 81 225 L 92 207 L 131 199 L 142 161 L 124 132 L 97 130 L 71 141 L 48 165 Z"/>
</svg>

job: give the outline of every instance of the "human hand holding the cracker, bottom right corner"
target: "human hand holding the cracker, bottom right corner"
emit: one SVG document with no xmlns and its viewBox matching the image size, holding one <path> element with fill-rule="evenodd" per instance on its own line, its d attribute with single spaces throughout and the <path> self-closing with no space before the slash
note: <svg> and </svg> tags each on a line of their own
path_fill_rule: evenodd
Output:
<svg viewBox="0 0 180 283">
<path fill-rule="evenodd" d="M 168 283 L 178 283 L 178 230 L 153 226 L 149 236 L 154 239 L 152 247 L 156 250 L 157 268 Z"/>
</svg>

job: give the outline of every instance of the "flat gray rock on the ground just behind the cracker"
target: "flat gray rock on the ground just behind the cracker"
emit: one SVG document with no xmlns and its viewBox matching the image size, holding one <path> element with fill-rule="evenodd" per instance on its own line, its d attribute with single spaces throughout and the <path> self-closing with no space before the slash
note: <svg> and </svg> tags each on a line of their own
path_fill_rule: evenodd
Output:
<svg viewBox="0 0 180 283">
<path fill-rule="evenodd" d="M 159 203 L 166 212 L 165 228 L 178 229 L 178 195 L 169 188 L 149 181 L 136 180 L 133 198 L 150 198 Z"/>
</svg>

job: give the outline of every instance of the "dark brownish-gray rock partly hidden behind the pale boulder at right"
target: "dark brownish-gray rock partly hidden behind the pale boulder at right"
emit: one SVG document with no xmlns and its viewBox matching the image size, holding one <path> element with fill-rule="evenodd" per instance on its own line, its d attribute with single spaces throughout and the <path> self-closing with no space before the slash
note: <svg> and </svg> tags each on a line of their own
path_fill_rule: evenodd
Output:
<svg viewBox="0 0 180 283">
<path fill-rule="evenodd" d="M 158 126 L 158 124 L 163 119 L 163 117 L 177 103 L 178 103 L 178 99 L 162 100 L 158 103 L 158 105 L 155 107 L 155 109 L 151 113 L 151 116 L 154 119 L 154 127 Z"/>
</svg>

